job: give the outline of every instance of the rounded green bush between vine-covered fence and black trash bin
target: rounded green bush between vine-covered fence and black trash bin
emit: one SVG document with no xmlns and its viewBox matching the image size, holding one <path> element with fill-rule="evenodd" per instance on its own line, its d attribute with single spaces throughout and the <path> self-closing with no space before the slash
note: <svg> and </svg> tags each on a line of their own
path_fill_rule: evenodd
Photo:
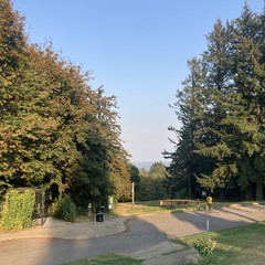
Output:
<svg viewBox="0 0 265 265">
<path fill-rule="evenodd" d="M 74 222 L 76 218 L 76 205 L 67 194 L 63 194 L 51 205 L 49 213 L 54 218 Z"/>
</svg>

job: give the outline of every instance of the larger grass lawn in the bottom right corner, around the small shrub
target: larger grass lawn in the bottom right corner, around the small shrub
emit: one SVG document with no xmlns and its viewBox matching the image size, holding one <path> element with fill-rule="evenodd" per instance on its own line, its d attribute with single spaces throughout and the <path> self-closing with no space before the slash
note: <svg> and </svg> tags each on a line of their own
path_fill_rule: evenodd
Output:
<svg viewBox="0 0 265 265">
<path fill-rule="evenodd" d="M 192 246 L 193 242 L 205 233 L 176 240 L 181 244 Z M 265 264 L 265 222 L 258 222 L 220 232 L 211 232 L 211 240 L 218 245 L 211 261 L 201 264 L 211 265 L 263 265 Z"/>
</svg>

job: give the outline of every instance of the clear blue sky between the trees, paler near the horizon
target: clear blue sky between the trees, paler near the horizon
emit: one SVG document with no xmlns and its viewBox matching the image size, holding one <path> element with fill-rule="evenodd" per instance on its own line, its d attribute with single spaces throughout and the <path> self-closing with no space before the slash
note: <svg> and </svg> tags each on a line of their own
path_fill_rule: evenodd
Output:
<svg viewBox="0 0 265 265">
<path fill-rule="evenodd" d="M 261 13 L 263 0 L 248 0 Z M 13 0 L 32 43 L 53 42 L 92 73 L 92 88 L 117 96 L 121 140 L 130 161 L 165 161 L 180 127 L 176 92 L 187 61 L 206 49 L 218 19 L 240 17 L 245 0 Z"/>
</svg>

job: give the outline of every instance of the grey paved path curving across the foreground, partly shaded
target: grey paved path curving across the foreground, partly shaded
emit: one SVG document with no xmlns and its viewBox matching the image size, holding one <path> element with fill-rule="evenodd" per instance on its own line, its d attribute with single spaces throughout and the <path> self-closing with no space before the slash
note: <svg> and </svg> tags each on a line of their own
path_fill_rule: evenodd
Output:
<svg viewBox="0 0 265 265">
<path fill-rule="evenodd" d="M 205 231 L 206 219 L 210 221 L 211 231 L 233 227 L 264 221 L 265 206 L 236 206 L 219 211 L 213 210 L 211 212 L 199 211 L 193 213 L 146 215 L 128 220 L 128 230 L 123 233 L 98 239 L 23 239 L 1 241 L 0 264 L 59 265 L 106 253 L 124 253 L 132 256 L 138 254 L 138 258 L 141 258 L 148 250 L 152 254 L 148 256 L 149 259 L 144 264 L 161 264 L 159 258 L 162 258 L 162 264 L 165 265 L 182 264 L 184 257 L 180 258 L 180 256 L 183 252 L 157 257 L 156 246 L 161 248 L 172 237 Z M 65 226 L 65 237 L 68 239 L 67 235 L 70 233 L 71 226 Z M 142 252 L 142 250 L 145 251 Z"/>
</svg>

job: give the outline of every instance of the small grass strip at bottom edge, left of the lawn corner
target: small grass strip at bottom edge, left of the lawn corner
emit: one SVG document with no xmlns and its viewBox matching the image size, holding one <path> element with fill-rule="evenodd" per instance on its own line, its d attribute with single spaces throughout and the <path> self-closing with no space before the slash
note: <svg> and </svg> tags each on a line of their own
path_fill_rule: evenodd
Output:
<svg viewBox="0 0 265 265">
<path fill-rule="evenodd" d="M 66 263 L 65 265 L 125 265 L 125 264 L 140 265 L 141 261 L 137 261 L 131 257 L 125 257 L 117 254 L 108 254 L 104 256 L 84 258 L 73 263 Z"/>
</svg>

